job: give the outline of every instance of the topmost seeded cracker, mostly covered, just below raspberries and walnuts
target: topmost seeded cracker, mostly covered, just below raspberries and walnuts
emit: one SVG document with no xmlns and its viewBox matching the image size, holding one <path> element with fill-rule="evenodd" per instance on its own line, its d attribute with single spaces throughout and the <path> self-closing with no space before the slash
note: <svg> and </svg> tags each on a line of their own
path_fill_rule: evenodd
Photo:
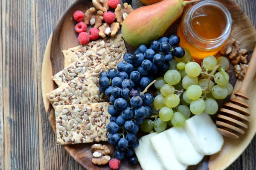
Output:
<svg viewBox="0 0 256 170">
<path fill-rule="evenodd" d="M 102 40 L 105 41 L 113 57 L 119 58 L 119 55 L 121 55 L 120 58 L 122 60 L 123 55 L 126 53 L 126 47 L 125 42 L 122 39 L 122 34 L 117 34 L 116 37 L 99 39 L 96 41 L 89 42 L 87 45 L 84 46 L 79 45 L 73 48 L 63 50 L 62 53 L 64 55 L 64 67 L 67 67 L 68 65 L 70 65 L 70 63 L 79 59 L 84 53 L 89 51 Z"/>
</svg>

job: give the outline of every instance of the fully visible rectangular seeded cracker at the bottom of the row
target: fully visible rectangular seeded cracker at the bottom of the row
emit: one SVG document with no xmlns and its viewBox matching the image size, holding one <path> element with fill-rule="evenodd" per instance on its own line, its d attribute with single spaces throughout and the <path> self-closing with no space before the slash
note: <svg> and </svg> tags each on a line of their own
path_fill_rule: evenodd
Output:
<svg viewBox="0 0 256 170">
<path fill-rule="evenodd" d="M 108 141 L 108 102 L 55 106 L 58 144 Z"/>
</svg>

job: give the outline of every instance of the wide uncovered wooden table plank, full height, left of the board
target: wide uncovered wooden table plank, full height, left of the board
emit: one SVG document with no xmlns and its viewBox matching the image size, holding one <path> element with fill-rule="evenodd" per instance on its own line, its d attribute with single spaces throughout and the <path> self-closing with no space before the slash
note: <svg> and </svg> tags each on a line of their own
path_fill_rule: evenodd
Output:
<svg viewBox="0 0 256 170">
<path fill-rule="evenodd" d="M 37 170 L 35 1 L 2 0 L 1 4 L 4 90 L 0 96 L 3 97 L 4 135 L 0 136 L 4 139 L 3 169 Z"/>
</svg>

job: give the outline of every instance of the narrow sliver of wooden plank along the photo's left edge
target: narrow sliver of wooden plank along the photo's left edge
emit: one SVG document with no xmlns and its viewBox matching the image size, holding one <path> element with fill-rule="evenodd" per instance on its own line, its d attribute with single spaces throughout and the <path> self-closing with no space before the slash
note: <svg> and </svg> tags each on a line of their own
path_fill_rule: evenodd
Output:
<svg viewBox="0 0 256 170">
<path fill-rule="evenodd" d="M 2 0 L 0 0 L 0 9 Z M 2 11 L 0 12 L 2 18 Z M 2 20 L 0 20 L 0 30 L 2 30 Z M 0 37 L 0 136 L 3 136 L 3 48 L 2 48 L 2 31 Z M 4 145 L 3 138 L 0 138 L 0 170 L 4 169 Z"/>
</svg>

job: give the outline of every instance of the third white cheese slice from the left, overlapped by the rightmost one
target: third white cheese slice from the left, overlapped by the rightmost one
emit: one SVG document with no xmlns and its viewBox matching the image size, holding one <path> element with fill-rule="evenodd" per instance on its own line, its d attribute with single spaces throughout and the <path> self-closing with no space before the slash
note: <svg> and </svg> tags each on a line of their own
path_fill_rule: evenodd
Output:
<svg viewBox="0 0 256 170">
<path fill-rule="evenodd" d="M 182 127 L 172 127 L 166 130 L 165 133 L 173 154 L 180 163 L 195 165 L 204 158 L 204 155 L 195 150 Z"/>
</svg>

